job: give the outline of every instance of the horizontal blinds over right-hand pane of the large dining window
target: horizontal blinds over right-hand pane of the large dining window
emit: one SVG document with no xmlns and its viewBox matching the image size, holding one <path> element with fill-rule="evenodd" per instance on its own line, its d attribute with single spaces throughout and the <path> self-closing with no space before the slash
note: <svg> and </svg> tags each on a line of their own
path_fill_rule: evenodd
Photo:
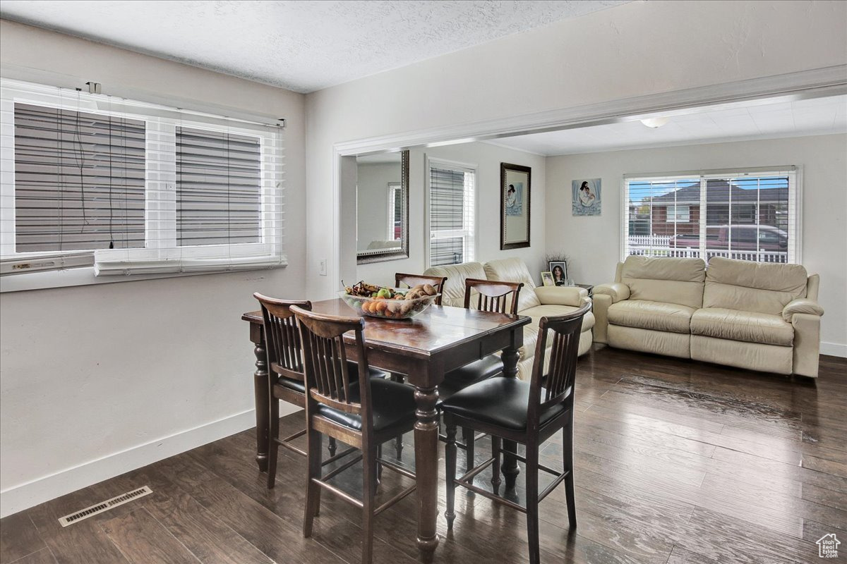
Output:
<svg viewBox="0 0 847 564">
<path fill-rule="evenodd" d="M 261 183 L 259 138 L 178 127 L 177 244 L 261 242 Z"/>
</svg>

